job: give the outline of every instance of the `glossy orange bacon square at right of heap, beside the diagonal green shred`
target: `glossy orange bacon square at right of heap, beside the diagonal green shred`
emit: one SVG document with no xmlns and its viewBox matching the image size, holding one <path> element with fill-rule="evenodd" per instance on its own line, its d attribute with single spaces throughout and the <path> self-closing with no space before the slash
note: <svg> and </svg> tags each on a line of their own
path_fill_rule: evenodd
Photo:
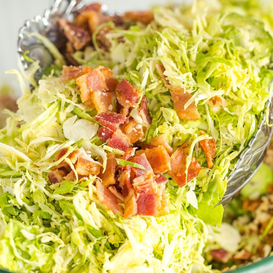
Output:
<svg viewBox="0 0 273 273">
<path fill-rule="evenodd" d="M 144 151 L 154 173 L 165 173 L 171 170 L 170 156 L 163 145 Z"/>
</svg>

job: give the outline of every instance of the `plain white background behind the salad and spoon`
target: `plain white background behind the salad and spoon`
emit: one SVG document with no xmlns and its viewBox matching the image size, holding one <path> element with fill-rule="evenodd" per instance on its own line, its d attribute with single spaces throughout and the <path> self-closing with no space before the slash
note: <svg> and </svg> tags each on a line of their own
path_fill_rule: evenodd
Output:
<svg viewBox="0 0 273 273">
<path fill-rule="evenodd" d="M 43 15 L 53 0 L 0 0 L 0 86 L 8 82 L 17 86 L 16 77 L 5 75 L 4 71 L 17 66 L 18 30 L 25 20 Z M 168 0 L 97 0 L 108 5 L 110 10 L 141 10 L 155 3 Z M 92 2 L 86 0 L 85 2 Z"/>
</svg>

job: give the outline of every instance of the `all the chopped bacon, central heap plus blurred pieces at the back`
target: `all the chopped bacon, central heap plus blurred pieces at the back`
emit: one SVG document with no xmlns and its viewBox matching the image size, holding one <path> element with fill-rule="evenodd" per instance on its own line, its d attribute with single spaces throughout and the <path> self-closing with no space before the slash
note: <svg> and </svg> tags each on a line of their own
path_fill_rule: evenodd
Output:
<svg viewBox="0 0 273 273">
<path fill-rule="evenodd" d="M 60 19 L 59 25 L 68 40 L 67 53 L 72 53 L 91 45 L 91 36 L 95 31 L 96 43 L 108 51 L 110 45 L 106 34 L 111 27 L 105 25 L 98 28 L 103 23 L 111 21 L 115 26 L 126 28 L 132 23 L 148 24 L 152 20 L 151 11 L 108 16 L 102 13 L 101 4 L 93 3 L 84 7 L 73 23 Z M 156 65 L 156 70 L 171 92 L 177 115 L 183 120 L 200 120 L 201 116 L 195 103 L 191 103 L 186 109 L 184 107 L 192 95 L 183 88 L 170 85 L 165 78 L 165 68 L 162 64 Z M 114 213 L 124 217 L 135 214 L 160 216 L 169 213 L 165 189 L 168 178 L 164 174 L 183 187 L 201 170 L 195 157 L 186 170 L 190 145 L 185 142 L 173 151 L 164 135 L 151 138 L 149 144 L 143 143 L 144 134 L 149 130 L 152 121 L 147 108 L 148 100 L 128 80 L 119 82 L 113 77 L 110 68 L 64 66 L 61 80 L 66 82 L 71 79 L 76 81 L 82 103 L 97 111 L 94 121 L 101 126 L 98 137 L 108 146 L 124 151 L 123 157 L 119 159 L 131 162 L 132 166 L 118 165 L 118 156 L 111 152 L 107 155 L 107 165 L 103 171 L 100 162 L 95 162 L 87 151 L 81 148 L 68 154 L 76 174 L 71 166 L 63 161 L 49 174 L 50 181 L 73 181 L 76 175 L 78 179 L 96 175 L 99 178 L 96 181 L 97 196 Z M 221 107 L 216 99 L 211 104 Z M 132 113 L 138 118 L 134 119 Z M 200 134 L 206 133 L 202 131 Z M 208 167 L 212 168 L 215 140 L 205 139 L 199 144 L 205 151 Z M 67 152 L 67 149 L 61 150 L 56 160 L 60 160 Z M 101 158 L 99 161 L 102 161 Z M 143 169 L 137 168 L 136 164 L 143 166 Z"/>
</svg>

